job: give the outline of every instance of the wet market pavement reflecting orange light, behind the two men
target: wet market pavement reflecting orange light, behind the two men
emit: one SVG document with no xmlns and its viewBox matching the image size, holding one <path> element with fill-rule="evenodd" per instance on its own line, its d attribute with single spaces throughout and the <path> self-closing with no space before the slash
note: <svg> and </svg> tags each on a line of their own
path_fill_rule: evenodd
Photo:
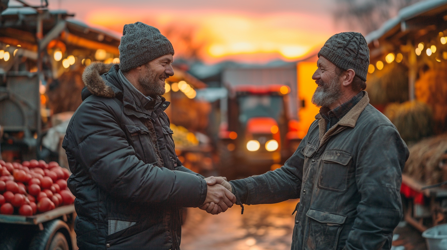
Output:
<svg viewBox="0 0 447 250">
<path fill-rule="evenodd" d="M 181 250 L 290 250 L 298 201 L 245 205 L 243 215 L 238 205 L 219 215 L 188 208 Z M 394 233 L 392 250 L 427 249 L 421 233 L 405 222 Z"/>
</svg>

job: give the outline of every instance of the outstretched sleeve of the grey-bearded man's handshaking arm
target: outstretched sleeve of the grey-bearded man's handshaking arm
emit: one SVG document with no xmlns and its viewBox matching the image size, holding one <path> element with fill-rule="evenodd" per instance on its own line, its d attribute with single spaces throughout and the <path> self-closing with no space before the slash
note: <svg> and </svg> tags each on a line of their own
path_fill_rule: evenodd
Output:
<svg viewBox="0 0 447 250">
<path fill-rule="evenodd" d="M 304 139 L 283 167 L 262 175 L 230 181 L 236 204 L 272 204 L 297 199 L 303 180 Z"/>
</svg>

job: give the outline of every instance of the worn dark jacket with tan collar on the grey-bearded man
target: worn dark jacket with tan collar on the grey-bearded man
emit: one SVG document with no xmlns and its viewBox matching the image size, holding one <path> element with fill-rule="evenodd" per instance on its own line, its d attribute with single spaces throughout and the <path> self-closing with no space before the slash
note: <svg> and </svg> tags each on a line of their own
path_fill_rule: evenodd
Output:
<svg viewBox="0 0 447 250">
<path fill-rule="evenodd" d="M 316 115 L 283 167 L 230 183 L 236 204 L 300 198 L 292 250 L 390 249 L 409 151 L 367 92 L 326 132 Z"/>
</svg>

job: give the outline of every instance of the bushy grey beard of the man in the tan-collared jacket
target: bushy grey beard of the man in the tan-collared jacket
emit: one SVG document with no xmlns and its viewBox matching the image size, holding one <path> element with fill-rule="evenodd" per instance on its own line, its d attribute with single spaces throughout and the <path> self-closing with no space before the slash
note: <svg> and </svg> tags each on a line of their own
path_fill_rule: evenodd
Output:
<svg viewBox="0 0 447 250">
<path fill-rule="evenodd" d="M 312 96 L 312 103 L 318 108 L 329 107 L 342 97 L 342 88 L 340 86 L 340 77 L 335 77 L 329 83 L 325 83 L 318 79 L 318 86 Z"/>
</svg>

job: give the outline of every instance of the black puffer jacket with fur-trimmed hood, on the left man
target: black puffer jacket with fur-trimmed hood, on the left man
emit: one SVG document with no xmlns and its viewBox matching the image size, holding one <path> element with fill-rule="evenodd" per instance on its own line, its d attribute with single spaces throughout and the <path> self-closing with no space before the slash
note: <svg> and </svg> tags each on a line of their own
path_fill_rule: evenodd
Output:
<svg viewBox="0 0 447 250">
<path fill-rule="evenodd" d="M 178 250 L 179 208 L 202 205 L 207 184 L 175 154 L 163 112 L 169 102 L 134 100 L 118 69 L 102 63 L 85 69 L 83 103 L 63 141 L 77 244 L 80 250 Z"/>
</svg>

